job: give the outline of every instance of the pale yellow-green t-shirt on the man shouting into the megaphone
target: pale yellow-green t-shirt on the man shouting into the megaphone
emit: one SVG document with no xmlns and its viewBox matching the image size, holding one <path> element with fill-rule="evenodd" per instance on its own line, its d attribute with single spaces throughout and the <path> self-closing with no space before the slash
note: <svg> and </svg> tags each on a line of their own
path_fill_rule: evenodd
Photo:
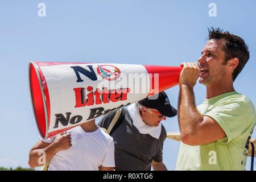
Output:
<svg viewBox="0 0 256 182">
<path fill-rule="evenodd" d="M 201 146 L 181 142 L 175 170 L 245 170 L 255 126 L 255 108 L 249 98 L 229 92 L 206 99 L 197 110 L 214 119 L 226 137 Z"/>
</svg>

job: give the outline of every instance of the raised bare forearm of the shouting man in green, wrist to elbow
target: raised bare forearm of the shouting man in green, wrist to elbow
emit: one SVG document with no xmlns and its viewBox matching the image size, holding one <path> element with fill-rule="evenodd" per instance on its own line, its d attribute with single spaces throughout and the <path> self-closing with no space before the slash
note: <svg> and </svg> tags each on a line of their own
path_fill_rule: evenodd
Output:
<svg viewBox="0 0 256 182">
<path fill-rule="evenodd" d="M 177 116 L 183 139 L 196 134 L 197 126 L 203 121 L 202 115 L 196 109 L 193 88 L 188 85 L 180 85 Z"/>
</svg>

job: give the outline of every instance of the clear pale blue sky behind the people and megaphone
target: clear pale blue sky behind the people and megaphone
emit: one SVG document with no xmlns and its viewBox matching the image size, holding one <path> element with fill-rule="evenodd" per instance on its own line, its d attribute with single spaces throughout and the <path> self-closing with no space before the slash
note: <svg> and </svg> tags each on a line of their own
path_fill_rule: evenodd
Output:
<svg viewBox="0 0 256 182">
<path fill-rule="evenodd" d="M 38 16 L 39 3 L 46 5 L 46 16 Z M 216 4 L 217 16 L 209 16 L 210 3 Z M 179 66 L 197 61 L 207 27 L 221 27 L 249 46 L 250 60 L 234 87 L 255 105 L 255 6 L 254 0 L 1 1 L 0 166 L 28 167 L 28 152 L 39 139 L 28 90 L 29 61 Z M 194 90 L 200 104 L 205 86 L 197 83 Z M 177 107 L 179 88 L 166 92 Z M 167 132 L 179 131 L 177 117 L 163 125 Z M 179 142 L 166 139 L 163 162 L 168 170 L 175 169 L 178 151 Z"/>
</svg>

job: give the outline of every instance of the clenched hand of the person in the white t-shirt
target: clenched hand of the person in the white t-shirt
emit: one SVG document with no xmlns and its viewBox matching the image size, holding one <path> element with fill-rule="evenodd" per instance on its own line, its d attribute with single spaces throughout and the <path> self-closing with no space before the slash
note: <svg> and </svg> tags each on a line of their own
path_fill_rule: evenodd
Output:
<svg viewBox="0 0 256 182">
<path fill-rule="evenodd" d="M 64 134 L 64 135 L 59 135 L 56 137 L 55 141 L 53 142 L 53 145 L 57 149 L 57 151 L 60 150 L 67 150 L 72 146 L 71 143 L 71 134 Z"/>
</svg>

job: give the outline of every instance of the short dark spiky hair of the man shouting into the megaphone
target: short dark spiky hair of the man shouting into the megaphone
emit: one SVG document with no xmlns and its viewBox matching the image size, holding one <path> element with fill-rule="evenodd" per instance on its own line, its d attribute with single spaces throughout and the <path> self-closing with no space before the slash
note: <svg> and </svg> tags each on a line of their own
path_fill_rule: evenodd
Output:
<svg viewBox="0 0 256 182">
<path fill-rule="evenodd" d="M 249 51 L 248 46 L 245 44 L 245 41 L 237 35 L 230 34 L 228 31 L 223 31 L 220 28 L 214 29 L 208 28 L 209 36 L 208 39 L 224 39 L 225 46 L 222 47 L 222 51 L 225 53 L 224 63 L 226 64 L 228 60 L 237 57 L 239 63 L 237 68 L 234 69 L 232 74 L 233 81 L 236 80 L 238 74 L 242 71 L 243 67 L 249 60 Z"/>
</svg>

